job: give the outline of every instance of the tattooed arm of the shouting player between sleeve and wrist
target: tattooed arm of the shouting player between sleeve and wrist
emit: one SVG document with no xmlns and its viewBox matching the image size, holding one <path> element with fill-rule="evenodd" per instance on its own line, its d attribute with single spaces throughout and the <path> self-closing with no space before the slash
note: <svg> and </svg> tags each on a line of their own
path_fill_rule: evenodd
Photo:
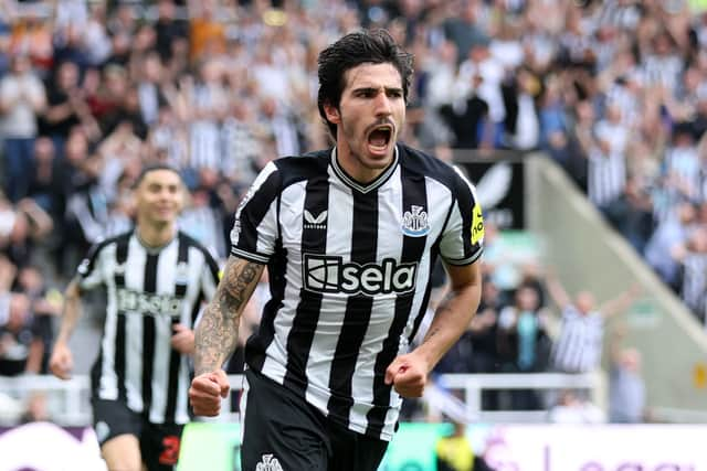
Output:
<svg viewBox="0 0 707 471">
<path fill-rule="evenodd" d="M 217 293 L 207 307 L 196 331 L 196 374 L 221 367 L 239 338 L 241 313 L 247 303 L 263 266 L 246 260 L 229 260 Z"/>
</svg>

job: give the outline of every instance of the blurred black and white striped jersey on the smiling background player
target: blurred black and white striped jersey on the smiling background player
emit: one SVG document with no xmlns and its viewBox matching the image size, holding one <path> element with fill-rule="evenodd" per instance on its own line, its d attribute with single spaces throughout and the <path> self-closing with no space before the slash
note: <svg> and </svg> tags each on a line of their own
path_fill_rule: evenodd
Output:
<svg viewBox="0 0 707 471">
<path fill-rule="evenodd" d="M 191 371 L 170 340 L 172 325 L 192 327 L 215 292 L 209 251 L 181 232 L 147 248 L 131 231 L 94 246 L 77 272 L 82 290 L 104 287 L 107 297 L 94 397 L 123 400 L 154 424 L 189 421 Z"/>
</svg>

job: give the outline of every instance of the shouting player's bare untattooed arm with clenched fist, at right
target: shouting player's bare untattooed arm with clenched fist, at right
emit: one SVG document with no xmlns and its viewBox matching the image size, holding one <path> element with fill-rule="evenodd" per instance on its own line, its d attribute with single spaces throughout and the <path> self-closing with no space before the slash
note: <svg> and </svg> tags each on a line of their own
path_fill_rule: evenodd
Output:
<svg viewBox="0 0 707 471">
<path fill-rule="evenodd" d="M 451 289 L 434 313 L 423 342 L 412 352 L 400 355 L 386 372 L 386 383 L 392 384 L 403 397 L 420 397 L 428 374 L 468 327 L 481 300 L 481 261 L 457 267 L 447 266 Z"/>
</svg>

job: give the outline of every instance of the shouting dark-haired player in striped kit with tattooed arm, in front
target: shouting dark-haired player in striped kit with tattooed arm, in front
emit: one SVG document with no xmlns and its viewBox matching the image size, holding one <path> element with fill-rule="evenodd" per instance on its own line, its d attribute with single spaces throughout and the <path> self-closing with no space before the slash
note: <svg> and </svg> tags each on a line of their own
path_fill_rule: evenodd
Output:
<svg viewBox="0 0 707 471">
<path fill-rule="evenodd" d="M 267 266 L 272 299 L 245 352 L 244 470 L 377 470 L 400 396 L 422 395 L 476 311 L 481 207 L 461 173 L 398 142 L 411 75 L 384 31 L 324 50 L 319 111 L 336 147 L 268 163 L 236 211 L 190 398 L 197 415 L 219 413 L 221 367 Z M 409 351 L 437 257 L 451 295 Z"/>
</svg>

